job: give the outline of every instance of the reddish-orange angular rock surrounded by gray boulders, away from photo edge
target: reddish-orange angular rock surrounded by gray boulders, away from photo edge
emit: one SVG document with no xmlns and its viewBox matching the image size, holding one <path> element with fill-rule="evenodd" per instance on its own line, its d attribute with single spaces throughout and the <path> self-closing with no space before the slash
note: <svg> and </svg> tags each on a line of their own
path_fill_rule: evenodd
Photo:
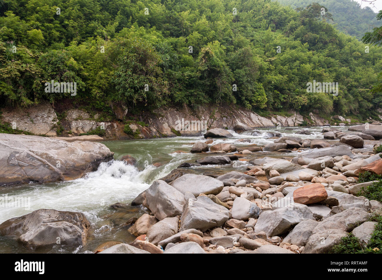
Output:
<svg viewBox="0 0 382 280">
<path fill-rule="evenodd" d="M 293 201 L 305 205 L 320 202 L 327 197 L 326 189 L 320 183 L 306 185 L 293 192 Z"/>
</svg>

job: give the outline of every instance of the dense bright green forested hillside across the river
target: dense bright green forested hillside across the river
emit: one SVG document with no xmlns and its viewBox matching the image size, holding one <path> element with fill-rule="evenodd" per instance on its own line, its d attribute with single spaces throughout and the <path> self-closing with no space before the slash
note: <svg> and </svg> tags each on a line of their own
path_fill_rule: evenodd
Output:
<svg viewBox="0 0 382 280">
<path fill-rule="evenodd" d="M 368 117 L 382 49 L 339 32 L 319 5 L 270 0 L 0 0 L 0 104 L 63 98 L 96 110 L 117 102 L 238 104 Z M 327 7 L 329 8 L 329 7 Z M 326 20 L 327 19 L 327 20 Z M 16 50 L 16 51 L 15 51 Z M 76 82 L 77 93 L 44 91 Z M 338 95 L 307 92 L 336 83 Z M 236 85 L 236 91 L 233 90 Z"/>
</svg>

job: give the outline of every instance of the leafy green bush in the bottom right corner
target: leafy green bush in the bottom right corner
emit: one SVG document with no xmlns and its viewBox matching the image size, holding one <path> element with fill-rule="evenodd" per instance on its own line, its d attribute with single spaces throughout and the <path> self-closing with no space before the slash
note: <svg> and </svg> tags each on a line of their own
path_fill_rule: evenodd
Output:
<svg viewBox="0 0 382 280">
<path fill-rule="evenodd" d="M 332 248 L 334 254 L 374 254 L 382 253 L 382 216 L 374 216 L 372 221 L 377 222 L 376 228 L 367 244 L 362 244 L 357 237 L 349 233 L 343 237 L 340 244 Z M 366 246 L 365 246 L 366 245 Z"/>
</svg>

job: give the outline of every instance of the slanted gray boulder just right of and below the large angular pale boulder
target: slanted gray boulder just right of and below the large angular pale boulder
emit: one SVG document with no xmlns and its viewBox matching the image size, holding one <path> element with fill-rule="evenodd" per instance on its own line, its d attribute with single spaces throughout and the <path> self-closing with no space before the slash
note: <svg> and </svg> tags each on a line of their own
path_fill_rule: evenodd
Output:
<svg viewBox="0 0 382 280">
<path fill-rule="evenodd" d="M 319 222 L 316 220 L 303 220 L 296 225 L 293 230 L 285 236 L 283 242 L 305 246 L 309 237 L 313 234 L 313 229 Z"/>
</svg>

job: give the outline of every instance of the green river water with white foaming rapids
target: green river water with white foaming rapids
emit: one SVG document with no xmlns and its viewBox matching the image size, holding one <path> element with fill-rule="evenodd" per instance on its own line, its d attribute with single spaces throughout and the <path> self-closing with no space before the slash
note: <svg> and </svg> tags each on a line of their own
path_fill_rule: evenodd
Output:
<svg viewBox="0 0 382 280">
<path fill-rule="evenodd" d="M 322 138 L 322 127 L 312 127 L 308 130 L 312 135 L 294 134 L 301 128 L 280 129 L 257 129 L 260 133 L 233 134 L 232 138 L 214 139 L 217 143 L 232 143 L 236 147 L 245 147 L 249 144 L 273 143 L 273 139 L 267 139 L 268 132 L 279 132 L 283 136 L 298 136 L 303 139 Z M 346 127 L 337 129 L 347 130 Z M 252 135 L 246 135 L 252 134 Z M 238 139 L 251 139 L 250 143 L 236 142 Z M 131 217 L 139 217 L 147 212 L 144 207 L 132 207 L 124 210 L 111 209 L 109 206 L 116 202 L 129 204 L 139 193 L 149 188 L 154 180 L 162 178 L 178 167 L 183 162 L 194 162 L 196 159 L 205 157 L 206 154 L 173 153 L 174 151 L 189 152 L 193 143 L 206 141 L 200 137 L 175 137 L 160 139 L 142 139 L 127 141 L 103 142 L 110 151 L 114 152 L 115 160 L 101 163 L 97 171 L 88 173 L 84 178 L 57 183 L 30 183 L 24 185 L 0 187 L 0 197 L 7 197 L 8 201 L 18 200 L 25 202 L 23 207 L 0 207 L 0 223 L 13 217 L 28 214 L 37 209 L 56 209 L 62 211 L 83 212 L 92 224 L 87 244 L 84 247 L 68 248 L 67 246 L 55 245 L 49 249 L 29 250 L 18 244 L 10 237 L 0 237 L 0 253 L 47 253 L 47 252 L 91 252 L 99 244 L 106 241 L 120 241 L 129 243 L 134 240 L 127 227 L 123 225 Z M 119 161 L 123 155 L 132 155 L 137 159 L 136 167 L 126 165 Z M 256 152 L 249 158 L 264 156 L 294 157 L 297 152 L 275 153 Z M 155 167 L 153 164 L 159 167 Z M 229 172 L 231 170 L 245 171 L 249 163 L 236 161 L 235 168 L 232 165 L 206 165 L 192 167 L 193 172 L 202 174 L 205 172 Z M 28 203 L 29 201 L 29 203 Z M 13 207 L 12 207 L 13 206 Z M 18 204 L 20 206 L 20 204 Z"/>
</svg>

